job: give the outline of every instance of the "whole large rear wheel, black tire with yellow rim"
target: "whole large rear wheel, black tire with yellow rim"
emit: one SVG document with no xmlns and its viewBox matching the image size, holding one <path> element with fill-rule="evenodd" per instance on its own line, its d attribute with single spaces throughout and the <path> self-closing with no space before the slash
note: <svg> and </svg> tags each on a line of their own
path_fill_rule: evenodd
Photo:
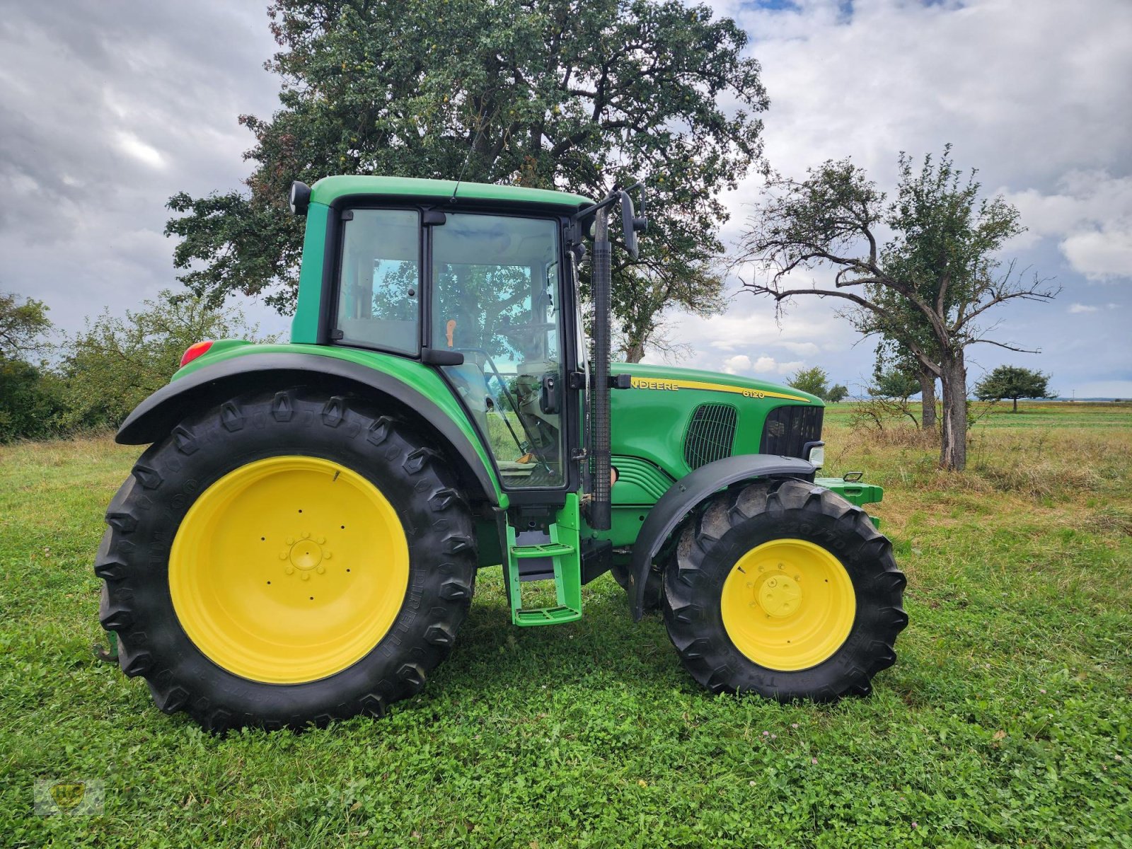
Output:
<svg viewBox="0 0 1132 849">
<path fill-rule="evenodd" d="M 380 715 L 451 651 L 472 518 L 437 452 L 344 396 L 234 398 L 152 446 L 95 572 L 119 662 L 213 730 Z"/>
</svg>

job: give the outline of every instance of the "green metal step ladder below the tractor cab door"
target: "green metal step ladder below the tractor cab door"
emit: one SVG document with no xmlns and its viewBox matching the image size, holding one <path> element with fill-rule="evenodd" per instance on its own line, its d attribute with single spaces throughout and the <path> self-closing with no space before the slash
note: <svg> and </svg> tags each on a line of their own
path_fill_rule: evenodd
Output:
<svg viewBox="0 0 1132 849">
<path fill-rule="evenodd" d="M 516 542 L 515 529 L 507 525 L 507 595 L 515 625 L 561 625 L 582 618 L 581 518 L 577 495 L 566 504 L 547 529 L 549 540 L 537 544 Z M 523 607 L 522 584 L 554 581 L 557 604 Z"/>
</svg>

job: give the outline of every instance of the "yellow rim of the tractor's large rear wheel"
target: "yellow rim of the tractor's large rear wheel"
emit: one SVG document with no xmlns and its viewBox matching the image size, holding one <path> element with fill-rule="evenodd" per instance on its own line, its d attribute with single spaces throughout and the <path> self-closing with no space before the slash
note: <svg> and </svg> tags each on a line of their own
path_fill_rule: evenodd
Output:
<svg viewBox="0 0 1132 849">
<path fill-rule="evenodd" d="M 389 631 L 409 586 L 401 520 L 372 483 L 321 457 L 259 460 L 181 522 L 169 589 L 217 666 L 269 684 L 340 672 Z"/>
</svg>

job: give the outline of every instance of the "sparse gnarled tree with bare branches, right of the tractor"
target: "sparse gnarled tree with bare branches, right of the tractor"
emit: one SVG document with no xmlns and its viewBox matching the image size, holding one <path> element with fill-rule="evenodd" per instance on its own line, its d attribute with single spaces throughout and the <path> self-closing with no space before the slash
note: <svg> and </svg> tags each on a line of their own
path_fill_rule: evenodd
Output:
<svg viewBox="0 0 1132 849">
<path fill-rule="evenodd" d="M 883 230 L 891 238 L 882 245 Z M 969 345 L 990 338 L 987 310 L 1013 300 L 1056 294 L 1035 277 L 1026 282 L 996 252 L 1022 232 L 1018 211 L 1003 198 L 980 197 L 975 172 L 955 168 L 950 145 L 917 171 L 900 156 L 900 181 L 889 204 L 849 160 L 811 169 L 805 180 L 773 177 L 767 197 L 745 233 L 744 258 L 765 273 L 746 284 L 778 303 L 812 294 L 847 302 L 843 315 L 863 333 L 882 333 L 911 351 L 940 378 L 943 396 L 940 464 L 967 464 Z M 797 274 L 832 267 L 831 284 L 798 285 Z"/>
</svg>

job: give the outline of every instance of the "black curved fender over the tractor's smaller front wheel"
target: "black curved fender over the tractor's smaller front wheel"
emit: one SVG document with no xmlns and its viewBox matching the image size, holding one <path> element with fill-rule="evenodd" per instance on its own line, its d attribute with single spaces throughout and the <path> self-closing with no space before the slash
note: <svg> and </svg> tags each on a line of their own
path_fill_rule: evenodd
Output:
<svg viewBox="0 0 1132 849">
<path fill-rule="evenodd" d="M 737 454 L 714 463 L 707 463 L 686 474 L 674 483 L 649 512 L 636 542 L 633 543 L 633 559 L 629 561 L 628 595 L 633 620 L 644 616 L 645 586 L 652 558 L 664 544 L 684 517 L 713 492 L 739 481 L 760 478 L 814 479 L 814 466 L 798 457 L 780 457 L 773 454 Z"/>
</svg>

